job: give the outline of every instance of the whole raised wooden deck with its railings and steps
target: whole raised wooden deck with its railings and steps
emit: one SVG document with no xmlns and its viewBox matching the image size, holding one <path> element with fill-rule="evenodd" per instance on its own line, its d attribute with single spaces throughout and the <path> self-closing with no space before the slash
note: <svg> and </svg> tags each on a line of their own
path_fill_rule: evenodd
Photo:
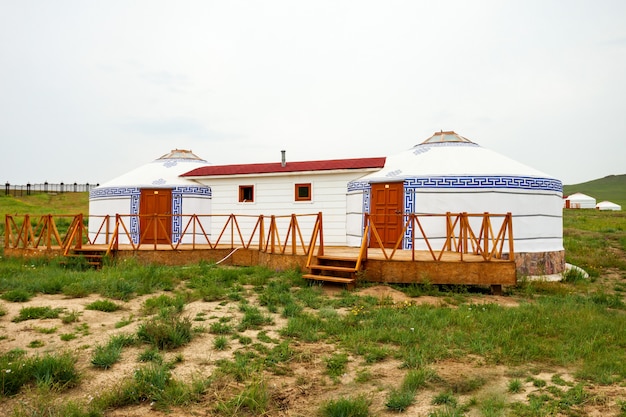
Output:
<svg viewBox="0 0 626 417">
<path fill-rule="evenodd" d="M 141 239 L 135 235 L 131 238 L 122 215 L 116 215 L 114 219 L 107 216 L 101 226 L 106 232 L 100 234 L 99 230 L 87 239 L 87 229 L 80 214 L 72 218 L 65 234 L 58 232 L 52 215 L 42 216 L 37 226 L 32 226 L 33 221 L 28 215 L 23 219 L 6 215 L 4 254 L 84 256 L 95 266 L 101 265 L 103 257 L 109 254 L 118 259 L 135 258 L 146 264 L 185 265 L 207 261 L 234 266 L 261 265 L 278 270 L 298 268 L 306 279 L 343 283 L 348 287 L 359 281 L 489 285 L 492 288 L 516 284 L 515 262 L 503 259 L 513 258 L 514 254 L 510 213 L 439 215 L 446 229 L 442 236 L 446 238 L 443 247 L 437 248 L 433 247 L 420 223 L 420 219 L 425 220 L 422 217 L 434 215 L 399 216 L 406 221 L 395 247 L 402 247 L 405 233 L 411 232 L 411 241 L 425 242 L 429 250 L 367 247 L 369 243 L 383 246 L 377 226 L 369 215 L 365 216 L 361 247 L 345 247 L 324 244 L 322 213 L 288 216 L 289 224 L 282 225 L 283 229 L 276 216 L 267 221 L 264 216 L 259 216 L 255 219 L 256 226 L 247 233 L 242 233 L 237 216 L 231 214 L 221 233 L 211 236 L 201 227 L 200 216 L 193 215 L 185 231 L 176 239 L 178 243 L 173 243 L 174 239 L 166 235 L 165 238 L 152 239 L 166 241 L 165 244 L 139 245 L 121 243 L 150 240 L 144 235 Z M 159 216 L 153 217 L 154 224 L 159 224 Z M 315 222 L 303 234 L 298 219 L 309 217 L 315 218 Z M 501 219 L 501 223 L 494 224 L 492 219 Z M 109 223 L 113 220 L 115 229 L 111 231 Z M 98 239 L 108 244 L 89 243 Z M 193 243 L 185 243 L 187 241 Z M 195 243 L 199 241 L 203 243 Z M 508 249 L 507 256 L 504 256 L 504 248 Z"/>
</svg>

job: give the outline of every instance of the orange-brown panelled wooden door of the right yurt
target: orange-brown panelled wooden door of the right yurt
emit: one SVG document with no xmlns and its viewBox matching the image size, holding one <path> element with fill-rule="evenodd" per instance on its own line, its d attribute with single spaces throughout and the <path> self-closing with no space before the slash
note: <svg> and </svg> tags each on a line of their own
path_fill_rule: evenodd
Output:
<svg viewBox="0 0 626 417">
<path fill-rule="evenodd" d="M 392 248 L 403 226 L 404 185 L 401 182 L 372 184 L 370 215 L 385 248 Z M 372 234 L 370 247 L 378 247 Z"/>
</svg>

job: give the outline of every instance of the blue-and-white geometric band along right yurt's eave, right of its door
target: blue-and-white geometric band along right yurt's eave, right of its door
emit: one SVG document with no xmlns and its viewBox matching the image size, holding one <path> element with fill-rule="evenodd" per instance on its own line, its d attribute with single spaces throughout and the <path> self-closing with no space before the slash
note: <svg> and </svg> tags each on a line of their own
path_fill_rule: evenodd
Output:
<svg viewBox="0 0 626 417">
<path fill-rule="evenodd" d="M 561 181 L 552 178 L 517 176 L 440 176 L 404 180 L 405 191 L 417 188 L 508 188 L 563 192 Z"/>
</svg>

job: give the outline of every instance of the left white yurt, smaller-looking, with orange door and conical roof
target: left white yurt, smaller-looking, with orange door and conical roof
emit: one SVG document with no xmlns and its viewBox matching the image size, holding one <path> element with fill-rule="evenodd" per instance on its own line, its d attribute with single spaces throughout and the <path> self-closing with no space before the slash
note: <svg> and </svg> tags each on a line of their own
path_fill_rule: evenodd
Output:
<svg viewBox="0 0 626 417">
<path fill-rule="evenodd" d="M 112 179 L 89 193 L 89 238 L 108 243 L 120 215 L 119 243 L 177 243 L 189 214 L 210 214 L 211 189 L 181 174 L 207 161 L 191 151 L 175 149 Z M 208 220 L 206 220 L 208 222 Z M 108 233 L 107 233 L 108 231 Z M 193 237 L 185 234 L 181 243 Z"/>
</svg>

